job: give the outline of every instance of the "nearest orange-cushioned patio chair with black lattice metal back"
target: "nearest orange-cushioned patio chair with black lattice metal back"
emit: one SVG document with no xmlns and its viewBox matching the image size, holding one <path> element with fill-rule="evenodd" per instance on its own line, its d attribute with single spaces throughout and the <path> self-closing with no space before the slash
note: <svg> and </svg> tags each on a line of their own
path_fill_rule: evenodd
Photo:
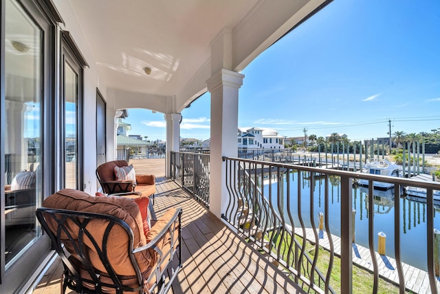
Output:
<svg viewBox="0 0 440 294">
<path fill-rule="evenodd" d="M 133 199 L 63 189 L 36 216 L 63 261 L 63 293 L 166 293 L 181 268 L 181 209 L 145 231 Z"/>
</svg>

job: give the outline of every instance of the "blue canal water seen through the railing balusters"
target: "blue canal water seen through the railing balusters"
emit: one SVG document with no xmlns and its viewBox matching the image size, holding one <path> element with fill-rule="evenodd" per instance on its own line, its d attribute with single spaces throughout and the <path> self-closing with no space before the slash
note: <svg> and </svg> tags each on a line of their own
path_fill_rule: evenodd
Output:
<svg viewBox="0 0 440 294">
<path fill-rule="evenodd" d="M 318 214 L 325 213 L 325 180 L 315 177 L 314 181 L 314 211 L 310 213 L 311 180 L 309 173 L 300 172 L 300 186 L 298 187 L 298 172 L 292 171 L 283 174 L 278 181 L 276 175 L 270 180 L 265 175 L 263 179 L 265 196 L 270 195 L 272 190 L 272 202 L 276 206 L 278 187 L 283 195 L 285 216 L 287 216 L 287 187 L 290 190 L 290 211 L 294 219 L 294 227 L 300 227 L 298 218 L 298 189 L 301 194 L 301 213 L 305 227 L 311 227 L 310 215 L 314 216 L 314 222 L 318 227 Z M 287 178 L 289 185 L 287 185 Z M 353 209 L 355 209 L 355 243 L 369 248 L 369 189 L 353 185 Z M 329 229 L 333 235 L 340 236 L 340 178 L 329 178 Z M 377 233 L 386 234 L 386 255 L 395 258 L 394 253 L 394 189 L 386 191 L 374 190 L 374 236 L 375 251 L 377 251 Z M 401 193 L 400 198 L 400 245 L 401 261 L 427 271 L 426 254 L 426 222 L 427 211 L 424 199 L 406 197 Z M 413 200 L 416 199 L 416 200 Z M 417 201 L 418 200 L 418 201 Z M 440 229 L 440 206 L 434 204 L 434 229 Z M 287 220 L 289 218 L 286 218 Z M 291 224 L 292 225 L 292 224 Z"/>
</svg>

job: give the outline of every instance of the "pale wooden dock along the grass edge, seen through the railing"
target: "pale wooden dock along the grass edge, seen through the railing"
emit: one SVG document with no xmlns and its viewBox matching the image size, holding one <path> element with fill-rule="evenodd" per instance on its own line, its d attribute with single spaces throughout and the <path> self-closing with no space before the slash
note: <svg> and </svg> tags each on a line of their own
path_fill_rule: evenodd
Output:
<svg viewBox="0 0 440 294">
<path fill-rule="evenodd" d="M 303 231 L 300 228 L 296 228 L 297 235 L 303 235 Z M 315 234 L 313 229 L 306 229 L 306 236 L 309 242 L 315 244 Z M 325 231 L 320 233 L 318 231 L 319 244 L 326 250 L 330 251 L 329 239 L 327 238 L 327 233 Z M 341 242 L 340 237 L 336 235 L 331 235 L 333 240 L 333 248 L 335 254 L 341 255 Z M 394 258 L 390 258 L 386 255 L 380 255 L 375 252 L 375 258 L 377 260 L 377 266 L 379 268 L 379 276 L 384 280 L 399 284 L 399 273 L 397 272 L 397 263 Z M 360 246 L 358 244 L 353 244 L 353 264 L 362 267 L 368 271 L 373 272 L 373 260 L 371 258 L 370 249 Z M 412 291 L 413 293 L 428 294 L 432 293 L 430 290 L 430 282 L 428 277 L 428 272 L 417 269 L 409 264 L 404 264 L 402 262 L 402 269 L 404 271 L 405 288 L 407 291 Z M 440 292 L 440 280 L 437 277 L 437 292 Z"/>
</svg>

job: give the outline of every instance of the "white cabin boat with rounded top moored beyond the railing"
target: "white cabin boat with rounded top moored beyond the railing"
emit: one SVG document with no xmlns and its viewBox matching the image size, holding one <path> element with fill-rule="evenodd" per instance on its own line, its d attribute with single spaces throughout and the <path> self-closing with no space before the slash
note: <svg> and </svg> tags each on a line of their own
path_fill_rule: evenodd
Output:
<svg viewBox="0 0 440 294">
<path fill-rule="evenodd" d="M 366 163 L 364 167 L 364 172 L 366 174 L 381 175 L 381 176 L 395 176 L 399 177 L 400 167 L 394 162 L 388 161 L 386 159 L 374 159 Z M 368 187 L 369 180 L 360 179 L 359 185 Z M 377 189 L 390 189 L 394 187 L 394 184 L 389 182 L 378 182 L 374 181 L 373 186 Z"/>
</svg>

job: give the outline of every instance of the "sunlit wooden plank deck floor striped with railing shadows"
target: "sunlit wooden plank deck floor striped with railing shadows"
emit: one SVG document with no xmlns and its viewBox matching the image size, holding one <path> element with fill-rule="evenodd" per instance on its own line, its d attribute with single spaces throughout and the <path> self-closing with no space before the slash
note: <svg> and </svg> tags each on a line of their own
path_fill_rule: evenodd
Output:
<svg viewBox="0 0 440 294">
<path fill-rule="evenodd" d="M 239 239 L 172 180 L 157 179 L 155 213 L 181 207 L 183 269 L 172 293 L 300 293 L 273 264 Z M 62 265 L 56 260 L 34 289 L 61 293 Z M 67 291 L 67 293 L 74 293 Z"/>
</svg>

